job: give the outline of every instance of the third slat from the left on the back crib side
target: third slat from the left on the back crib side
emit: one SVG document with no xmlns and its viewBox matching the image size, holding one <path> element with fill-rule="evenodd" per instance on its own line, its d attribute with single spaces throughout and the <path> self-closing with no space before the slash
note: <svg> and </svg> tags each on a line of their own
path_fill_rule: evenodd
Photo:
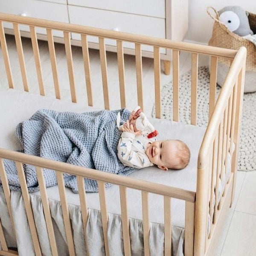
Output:
<svg viewBox="0 0 256 256">
<path fill-rule="evenodd" d="M 40 91 L 40 95 L 44 96 L 45 95 L 44 81 L 42 76 L 42 68 L 41 68 L 40 54 L 38 49 L 37 35 L 35 32 L 34 26 L 29 26 L 29 29 L 30 29 L 30 35 L 31 35 L 31 41 L 32 41 L 32 48 L 34 52 L 34 58 L 35 58 L 36 73 L 38 76 L 39 91 Z"/>
</svg>

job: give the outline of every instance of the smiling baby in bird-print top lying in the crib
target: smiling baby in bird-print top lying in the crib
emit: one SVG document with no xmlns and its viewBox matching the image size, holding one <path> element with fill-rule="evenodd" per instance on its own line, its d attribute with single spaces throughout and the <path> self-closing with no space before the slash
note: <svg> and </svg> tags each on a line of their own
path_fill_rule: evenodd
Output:
<svg viewBox="0 0 256 256">
<path fill-rule="evenodd" d="M 139 119 L 140 116 L 143 116 L 143 121 Z M 165 171 L 185 168 L 190 158 L 188 146 L 181 140 L 157 140 L 155 136 L 158 133 L 154 129 L 146 135 L 144 130 L 137 127 L 142 127 L 142 122 L 144 127 L 145 124 L 153 127 L 141 111 L 132 111 L 129 120 L 119 127 L 122 131 L 117 146 L 119 160 L 125 166 L 138 169 L 154 164 Z"/>
</svg>

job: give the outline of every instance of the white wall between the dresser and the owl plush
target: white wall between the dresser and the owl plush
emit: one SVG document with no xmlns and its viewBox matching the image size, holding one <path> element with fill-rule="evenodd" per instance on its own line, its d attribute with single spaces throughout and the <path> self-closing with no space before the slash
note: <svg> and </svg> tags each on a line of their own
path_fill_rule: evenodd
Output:
<svg viewBox="0 0 256 256">
<path fill-rule="evenodd" d="M 248 12 L 256 13 L 255 0 L 189 0 L 189 29 L 185 41 L 208 44 L 214 21 L 207 14 L 207 6 L 217 11 L 225 6 L 241 6 Z"/>
</svg>

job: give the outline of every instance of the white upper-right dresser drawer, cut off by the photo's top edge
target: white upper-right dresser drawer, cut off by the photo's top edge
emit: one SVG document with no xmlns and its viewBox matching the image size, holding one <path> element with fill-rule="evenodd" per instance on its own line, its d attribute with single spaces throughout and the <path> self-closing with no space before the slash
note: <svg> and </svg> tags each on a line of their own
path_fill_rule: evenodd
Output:
<svg viewBox="0 0 256 256">
<path fill-rule="evenodd" d="M 165 18 L 165 0 L 67 0 L 69 5 Z"/>
</svg>

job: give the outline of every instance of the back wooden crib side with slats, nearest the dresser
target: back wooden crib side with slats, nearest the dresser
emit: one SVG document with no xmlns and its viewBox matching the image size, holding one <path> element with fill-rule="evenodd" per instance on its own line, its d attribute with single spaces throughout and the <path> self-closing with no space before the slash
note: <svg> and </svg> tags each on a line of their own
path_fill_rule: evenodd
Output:
<svg viewBox="0 0 256 256">
<path fill-rule="evenodd" d="M 70 87 L 70 99 L 72 102 L 80 102 L 82 104 L 86 104 L 89 106 L 96 106 L 97 108 L 105 108 L 105 109 L 117 109 L 117 108 L 134 108 L 135 105 L 140 105 L 141 109 L 151 108 L 151 106 L 145 105 L 145 97 L 155 99 L 155 116 L 157 118 L 162 117 L 162 101 L 161 101 L 161 63 L 160 63 L 160 52 L 162 50 L 172 51 L 172 77 L 173 77 L 173 91 L 171 92 L 170 97 L 173 101 L 172 106 L 172 120 L 178 122 L 184 122 L 180 120 L 179 111 L 184 104 L 180 101 L 180 93 L 179 93 L 179 79 L 180 79 L 180 61 L 179 55 L 180 52 L 186 51 L 192 53 L 192 80 L 191 80 L 191 100 L 190 100 L 190 122 L 192 125 L 197 125 L 197 115 L 198 115 L 198 58 L 200 55 L 210 55 L 211 56 L 211 63 L 212 67 L 215 67 L 211 71 L 211 79 L 210 79 L 210 93 L 211 96 L 209 97 L 209 116 L 210 112 L 214 108 L 214 96 L 215 91 L 213 90 L 214 85 L 216 84 L 216 64 L 218 56 L 225 56 L 227 58 L 234 58 L 236 51 L 228 50 L 228 49 L 221 49 L 216 47 L 206 47 L 206 46 L 199 46 L 196 44 L 189 44 L 184 42 L 175 42 L 170 40 L 163 40 L 158 38 L 149 38 L 140 35 L 131 35 L 126 34 L 123 32 L 116 32 L 116 31 L 107 31 L 104 29 L 96 29 L 90 28 L 85 26 L 73 25 L 73 24 L 66 24 L 66 23 L 59 23 L 59 22 L 52 22 L 49 20 L 40 20 L 30 17 L 18 17 L 15 15 L 7 15 L 7 14 L 0 14 L 0 20 L 4 22 L 9 22 L 13 24 L 14 27 L 14 34 L 15 40 L 17 44 L 17 53 L 19 56 L 19 63 L 20 63 L 20 71 L 22 74 L 24 90 L 29 91 L 29 84 L 27 79 L 27 71 L 26 71 L 26 58 L 24 59 L 24 52 L 22 48 L 22 41 L 20 39 L 20 31 L 19 25 L 26 25 L 30 27 L 30 32 L 22 33 L 22 36 L 29 37 L 32 40 L 32 48 L 35 57 L 35 67 L 36 67 L 36 76 L 38 79 L 38 88 L 39 93 L 43 96 L 49 96 L 52 92 L 55 92 L 56 99 L 61 99 L 61 96 L 66 93 L 68 90 L 63 84 L 59 82 L 59 76 L 63 76 L 63 72 L 60 72 L 60 59 L 58 58 L 58 53 L 55 52 L 55 43 L 62 43 L 65 46 L 65 57 L 67 59 L 67 75 L 69 80 L 69 87 Z M 36 33 L 38 28 L 45 29 L 46 35 Z M 58 38 L 54 32 L 58 30 L 58 32 L 63 33 L 63 38 Z M 41 30 L 42 31 L 42 30 Z M 76 41 L 70 38 L 70 35 L 76 34 L 81 41 Z M 11 66 L 9 64 L 9 57 L 8 57 L 8 50 L 5 43 L 5 38 L 2 33 L 0 37 L 1 46 L 3 48 L 3 55 L 4 61 L 6 65 L 6 74 L 9 81 L 9 87 L 13 88 L 14 84 L 12 81 L 12 72 Z M 102 91 L 93 91 L 95 90 L 96 86 L 94 86 L 92 81 L 92 68 L 89 58 L 89 46 L 87 43 L 87 37 L 94 37 L 96 41 L 99 41 L 99 58 L 100 58 L 100 69 L 98 70 L 102 77 Z M 49 90 L 48 87 L 52 86 L 49 84 L 49 79 L 44 70 L 41 68 L 41 57 L 40 57 L 40 45 L 38 44 L 38 40 L 46 40 L 48 43 L 48 50 L 49 50 L 49 58 L 51 62 L 51 74 L 53 80 L 53 87 L 54 90 Z M 116 77 L 116 81 L 119 81 L 119 88 L 116 87 L 114 90 L 120 93 L 119 99 L 115 99 L 116 93 L 113 94 L 114 96 L 109 94 L 109 87 L 112 86 L 109 84 L 109 70 L 111 67 L 108 67 L 108 54 L 106 54 L 106 42 L 112 41 L 113 44 L 117 47 L 117 55 L 116 59 L 116 66 L 118 67 L 118 72 L 114 74 Z M 124 55 L 124 48 L 123 43 L 129 42 L 130 44 L 134 44 L 134 55 L 135 55 L 135 70 L 136 70 L 136 80 L 134 81 L 137 86 L 132 87 L 130 83 L 128 84 L 127 79 L 125 79 L 125 55 Z M 84 74 L 82 76 L 85 77 L 85 81 L 81 80 L 81 73 L 76 71 L 75 64 L 73 61 L 73 46 L 72 45 L 79 45 L 82 49 L 82 64 L 84 65 Z M 154 76 L 152 77 L 152 84 L 145 84 L 143 81 L 143 58 L 141 54 L 141 48 L 147 45 L 154 50 Z M 26 57 L 26 56 L 25 56 Z M 111 57 L 112 58 L 112 57 Z M 113 61 L 113 58 L 112 58 Z M 29 74 L 32 70 L 29 70 Z M 95 70 L 94 70 L 95 72 Z M 79 73 L 79 76 L 76 74 Z M 66 75 L 66 74 L 65 74 Z M 112 74 L 113 76 L 113 74 Z M 112 81 L 115 80 L 111 76 Z M 215 77 L 215 78 L 214 78 Z M 63 80 L 63 79 L 62 79 Z M 47 92 L 44 88 L 44 83 L 47 81 Z M 82 81 L 84 84 L 77 84 L 76 81 Z M 51 82 L 51 81 L 50 81 Z M 78 87 L 84 88 L 84 93 L 80 93 L 81 95 L 76 95 L 76 90 Z M 65 87 L 65 88 L 64 88 Z M 113 86 L 112 86 L 113 87 Z M 98 89 L 97 89 L 98 90 Z M 134 92 L 129 92 L 130 90 L 134 90 Z M 189 88 L 188 88 L 189 90 Z M 49 92 L 48 92 L 49 91 Z M 63 93 L 62 91 L 65 91 Z M 146 91 L 146 94 L 144 93 Z M 134 93 L 137 97 L 137 100 L 126 98 L 131 95 L 134 96 Z M 152 93 L 152 95 L 151 95 Z M 99 98 L 103 96 L 103 101 Z M 150 96 L 149 96 L 150 95 Z M 52 96 L 52 95 L 51 95 Z M 67 96 L 65 96 L 67 97 Z M 99 103 L 100 102 L 100 103 Z M 101 104 L 104 102 L 104 104 Z M 113 103 L 114 102 L 114 103 Z M 131 104 L 129 105 L 129 103 Z M 147 101 L 148 102 L 148 101 Z M 99 104 L 98 104 L 99 103 Z M 118 105 L 119 104 L 119 105 Z M 187 105 L 187 102 L 185 103 Z M 114 106 L 114 107 L 112 107 Z"/>
</svg>

